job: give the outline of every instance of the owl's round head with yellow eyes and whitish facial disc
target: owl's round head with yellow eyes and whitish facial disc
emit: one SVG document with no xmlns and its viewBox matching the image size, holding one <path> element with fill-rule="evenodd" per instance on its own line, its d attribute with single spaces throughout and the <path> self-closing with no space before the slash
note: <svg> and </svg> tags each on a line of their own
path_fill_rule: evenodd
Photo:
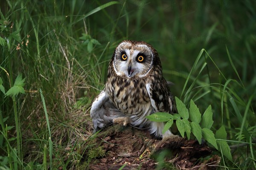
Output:
<svg viewBox="0 0 256 170">
<path fill-rule="evenodd" d="M 144 77 L 154 65 L 160 65 L 157 51 L 146 42 L 130 40 L 116 47 L 110 63 L 117 75 L 128 78 Z"/>
</svg>

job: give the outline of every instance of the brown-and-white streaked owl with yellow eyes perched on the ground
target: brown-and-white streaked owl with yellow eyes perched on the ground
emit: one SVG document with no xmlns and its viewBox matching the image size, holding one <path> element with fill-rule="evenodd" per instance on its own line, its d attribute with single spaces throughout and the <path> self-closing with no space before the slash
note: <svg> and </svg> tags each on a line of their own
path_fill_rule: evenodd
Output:
<svg viewBox="0 0 256 170">
<path fill-rule="evenodd" d="M 157 138 L 169 138 L 175 135 L 170 130 L 162 133 L 163 122 L 151 122 L 146 116 L 174 109 L 157 51 L 143 41 L 122 41 L 109 62 L 105 88 L 90 110 L 93 132 L 118 123 L 148 128 Z"/>
</svg>

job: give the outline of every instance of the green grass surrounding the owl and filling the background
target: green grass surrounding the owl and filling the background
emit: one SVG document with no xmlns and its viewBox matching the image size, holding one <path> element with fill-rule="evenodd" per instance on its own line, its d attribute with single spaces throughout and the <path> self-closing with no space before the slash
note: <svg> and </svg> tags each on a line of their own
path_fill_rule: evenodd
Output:
<svg viewBox="0 0 256 170">
<path fill-rule="evenodd" d="M 1 1 L 0 85 L 7 92 L 19 73 L 26 81 L 25 94 L 14 98 L 0 86 L 0 167 L 79 169 L 93 138 L 90 104 L 104 87 L 114 48 L 129 39 L 157 49 L 173 95 L 186 106 L 193 99 L 202 113 L 212 105 L 212 130 L 223 125 L 234 146 L 233 161 L 222 157 L 221 167 L 253 169 L 255 6 L 250 0 Z"/>
</svg>

